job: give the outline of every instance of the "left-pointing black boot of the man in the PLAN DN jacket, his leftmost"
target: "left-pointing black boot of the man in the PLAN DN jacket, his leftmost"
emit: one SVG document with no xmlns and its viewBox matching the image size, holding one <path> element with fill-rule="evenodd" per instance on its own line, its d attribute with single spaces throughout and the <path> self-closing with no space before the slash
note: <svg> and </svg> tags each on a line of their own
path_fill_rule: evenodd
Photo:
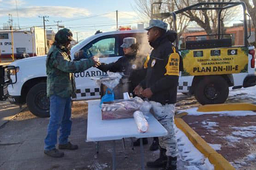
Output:
<svg viewBox="0 0 256 170">
<path fill-rule="evenodd" d="M 161 168 L 161 167 L 166 166 L 166 163 L 167 163 L 166 149 L 159 147 L 159 150 L 160 150 L 159 158 L 153 162 L 147 162 L 147 167 Z"/>
</svg>

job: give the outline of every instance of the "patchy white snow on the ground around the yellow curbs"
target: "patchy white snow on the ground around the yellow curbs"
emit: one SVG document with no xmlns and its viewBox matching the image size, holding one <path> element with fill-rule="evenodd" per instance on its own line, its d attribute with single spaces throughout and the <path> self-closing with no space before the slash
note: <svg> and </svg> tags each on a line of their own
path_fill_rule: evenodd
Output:
<svg viewBox="0 0 256 170">
<path fill-rule="evenodd" d="M 256 88 L 240 88 L 232 90 L 229 88 L 229 99 L 255 99 L 256 103 Z M 252 111 L 223 111 L 223 112 L 197 112 L 198 108 L 189 108 L 186 110 L 180 110 L 178 113 L 187 112 L 189 115 L 199 116 L 201 114 L 218 114 L 218 116 L 250 116 L 255 115 L 255 112 Z M 197 123 L 197 122 L 194 122 Z M 217 122 L 210 122 L 205 120 L 202 123 L 202 126 L 208 129 L 212 133 L 217 133 L 218 130 L 213 130 L 214 127 L 217 127 Z M 191 123 L 193 124 L 193 123 Z M 230 142 L 232 145 L 233 142 L 240 142 L 241 137 L 254 137 L 256 136 L 256 126 L 247 126 L 247 127 L 233 127 L 234 129 L 232 135 L 227 135 L 224 139 Z M 204 155 L 198 151 L 195 146 L 189 141 L 187 136 L 178 128 L 176 128 L 177 133 L 177 145 L 179 150 L 178 157 L 178 169 L 179 170 L 191 170 L 191 169 L 214 169 L 213 165 L 210 164 L 208 159 L 205 159 Z M 182 142 L 181 142 L 182 141 Z M 254 139 L 256 142 L 256 138 Z M 214 150 L 221 150 L 221 144 L 211 144 L 208 143 Z M 238 169 L 242 166 L 253 162 L 256 160 L 256 153 L 245 156 L 242 160 L 233 162 L 232 165 L 234 168 Z M 183 167 L 183 168 L 180 168 Z"/>
</svg>

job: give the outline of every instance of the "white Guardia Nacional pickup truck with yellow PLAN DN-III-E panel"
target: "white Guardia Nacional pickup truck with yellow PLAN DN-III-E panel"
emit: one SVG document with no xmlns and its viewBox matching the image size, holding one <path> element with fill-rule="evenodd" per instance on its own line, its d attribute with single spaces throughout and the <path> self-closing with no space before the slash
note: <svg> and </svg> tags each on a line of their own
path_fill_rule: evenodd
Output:
<svg viewBox="0 0 256 170">
<path fill-rule="evenodd" d="M 123 56 L 120 47 L 125 37 L 136 37 L 143 50 L 150 52 L 146 31 L 126 30 L 97 33 L 71 49 L 71 57 L 80 50 L 87 57 L 100 52 L 100 62 L 110 63 Z M 205 43 L 205 42 L 204 42 Z M 210 43 L 210 42 L 209 42 Z M 216 44 L 216 42 L 214 42 Z M 189 44 L 189 43 L 188 43 Z M 245 49 L 246 48 L 246 49 Z M 243 46 L 214 49 L 181 49 L 184 71 L 180 73 L 178 92 L 195 94 L 201 104 L 224 103 L 229 94 L 229 87 L 242 88 L 255 86 L 254 47 Z M 222 59 L 221 59 L 222 58 Z M 236 63 L 242 59 L 242 65 Z M 221 61 L 220 61 L 221 60 Z M 220 63 L 222 62 L 222 64 Z M 7 80 L 2 78 L 0 100 L 9 99 L 13 104 L 27 104 L 28 109 L 38 117 L 49 116 L 49 100 L 46 96 L 46 56 L 31 57 L 17 60 L 7 67 L 0 67 L 1 75 L 7 70 Z M 103 75 L 102 71 L 92 67 L 75 74 L 77 98 L 87 100 L 100 98 L 100 87 L 90 79 L 92 76 Z M 7 94 L 3 94 L 7 87 Z"/>
</svg>

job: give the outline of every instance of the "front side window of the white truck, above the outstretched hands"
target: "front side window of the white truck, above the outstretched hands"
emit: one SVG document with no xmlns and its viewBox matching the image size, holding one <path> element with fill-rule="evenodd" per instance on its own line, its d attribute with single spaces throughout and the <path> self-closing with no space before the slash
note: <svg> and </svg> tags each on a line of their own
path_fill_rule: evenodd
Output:
<svg viewBox="0 0 256 170">
<path fill-rule="evenodd" d="M 115 37 L 108 37 L 91 42 L 82 50 L 84 51 L 84 58 L 92 56 L 97 57 L 114 57 L 117 56 L 117 49 L 115 49 Z"/>
</svg>

